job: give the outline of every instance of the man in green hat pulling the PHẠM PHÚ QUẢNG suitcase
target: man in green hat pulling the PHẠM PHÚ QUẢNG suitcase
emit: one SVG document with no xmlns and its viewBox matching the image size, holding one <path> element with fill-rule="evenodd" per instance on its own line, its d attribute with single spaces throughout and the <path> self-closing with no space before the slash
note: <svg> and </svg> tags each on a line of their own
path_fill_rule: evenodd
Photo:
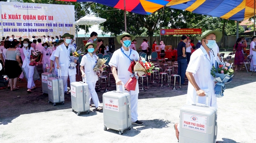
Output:
<svg viewBox="0 0 256 143">
<path fill-rule="evenodd" d="M 211 68 L 214 62 L 213 54 L 210 49 L 215 46 L 222 38 L 222 32 L 217 30 L 207 30 L 202 33 L 201 37 L 196 39 L 202 41 L 199 49 L 194 51 L 191 55 L 190 63 L 186 69 L 186 76 L 188 78 L 187 100 L 186 104 L 196 104 L 196 96 L 198 103 L 206 103 L 206 93 L 209 96 L 209 106 L 217 108 L 217 97 L 214 92 L 214 82 L 211 75 Z M 176 137 L 179 139 L 179 123 L 174 125 Z"/>
</svg>

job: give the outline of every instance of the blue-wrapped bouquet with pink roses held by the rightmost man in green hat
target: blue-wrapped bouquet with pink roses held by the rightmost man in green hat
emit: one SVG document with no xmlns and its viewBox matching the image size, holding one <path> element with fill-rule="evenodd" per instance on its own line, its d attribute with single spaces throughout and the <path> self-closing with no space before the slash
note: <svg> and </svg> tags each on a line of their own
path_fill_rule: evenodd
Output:
<svg viewBox="0 0 256 143">
<path fill-rule="evenodd" d="M 213 80 L 216 82 L 214 91 L 216 97 L 223 97 L 223 92 L 226 89 L 225 84 L 232 81 L 232 77 L 234 75 L 234 70 L 231 68 L 233 63 L 223 62 L 222 61 L 215 61 L 211 68 L 211 75 L 215 77 Z"/>
</svg>

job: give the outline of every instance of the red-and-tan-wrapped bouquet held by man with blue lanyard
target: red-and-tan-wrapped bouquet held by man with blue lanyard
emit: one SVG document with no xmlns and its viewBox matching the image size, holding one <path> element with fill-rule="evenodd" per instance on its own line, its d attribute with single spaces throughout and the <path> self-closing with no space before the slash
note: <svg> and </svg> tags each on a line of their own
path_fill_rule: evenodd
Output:
<svg viewBox="0 0 256 143">
<path fill-rule="evenodd" d="M 130 64 L 130 67 L 128 68 L 128 71 L 131 73 L 130 79 L 125 84 L 125 90 L 135 90 L 137 80 L 142 75 L 151 75 L 153 73 L 152 70 L 156 69 L 159 70 L 159 68 L 155 68 L 154 64 L 151 62 L 147 62 L 145 60 L 146 58 L 140 57 L 138 61 L 132 61 Z"/>
</svg>

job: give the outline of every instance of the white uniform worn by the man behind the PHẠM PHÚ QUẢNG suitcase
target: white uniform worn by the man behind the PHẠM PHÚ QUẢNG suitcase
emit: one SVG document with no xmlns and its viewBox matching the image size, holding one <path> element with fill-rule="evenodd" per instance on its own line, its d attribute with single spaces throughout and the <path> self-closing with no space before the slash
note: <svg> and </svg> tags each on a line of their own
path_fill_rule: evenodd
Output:
<svg viewBox="0 0 256 143">
<path fill-rule="evenodd" d="M 217 107 L 217 97 L 214 92 L 214 82 L 211 75 L 211 68 L 214 61 L 213 54 L 211 52 L 210 57 L 203 46 L 191 55 L 191 60 L 186 69 L 187 72 L 193 73 L 195 82 L 200 89 L 204 90 L 209 95 L 209 106 Z M 187 88 L 187 101 L 186 104 L 196 103 L 196 90 L 193 85 L 188 82 Z M 198 103 L 206 104 L 206 97 L 198 97 Z"/>
</svg>

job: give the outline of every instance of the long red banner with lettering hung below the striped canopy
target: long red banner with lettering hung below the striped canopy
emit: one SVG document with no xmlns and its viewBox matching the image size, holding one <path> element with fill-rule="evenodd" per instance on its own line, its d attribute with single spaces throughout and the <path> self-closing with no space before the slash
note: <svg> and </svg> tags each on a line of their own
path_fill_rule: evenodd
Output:
<svg viewBox="0 0 256 143">
<path fill-rule="evenodd" d="M 161 35 L 202 34 L 201 29 L 161 29 Z"/>
</svg>

